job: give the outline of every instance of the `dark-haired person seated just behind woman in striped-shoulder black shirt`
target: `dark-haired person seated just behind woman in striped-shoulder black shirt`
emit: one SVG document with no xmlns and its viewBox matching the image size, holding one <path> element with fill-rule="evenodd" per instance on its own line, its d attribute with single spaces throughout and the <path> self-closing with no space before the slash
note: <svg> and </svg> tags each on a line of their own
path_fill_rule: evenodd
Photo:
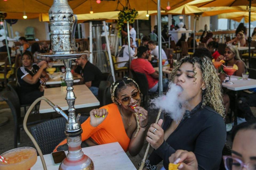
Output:
<svg viewBox="0 0 256 170">
<path fill-rule="evenodd" d="M 41 67 L 43 63 L 46 63 L 45 60 L 49 61 L 49 57 L 41 57 L 37 56 L 38 54 L 42 53 L 42 46 L 39 43 L 33 43 L 31 46 L 31 53 L 33 54 L 34 57 L 34 62 Z"/>
</svg>

